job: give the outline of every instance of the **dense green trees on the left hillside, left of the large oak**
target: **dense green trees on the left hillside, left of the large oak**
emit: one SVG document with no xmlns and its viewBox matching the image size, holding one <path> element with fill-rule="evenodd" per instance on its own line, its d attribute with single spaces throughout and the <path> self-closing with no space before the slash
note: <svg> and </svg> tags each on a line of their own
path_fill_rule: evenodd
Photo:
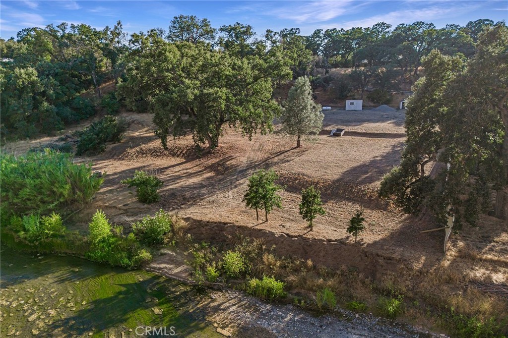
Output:
<svg viewBox="0 0 508 338">
<path fill-rule="evenodd" d="M 0 40 L 2 137 L 30 137 L 61 130 L 94 114 L 80 96 L 117 76 L 126 51 L 121 22 L 103 30 L 61 23 L 26 28 L 17 39 Z"/>
</svg>

